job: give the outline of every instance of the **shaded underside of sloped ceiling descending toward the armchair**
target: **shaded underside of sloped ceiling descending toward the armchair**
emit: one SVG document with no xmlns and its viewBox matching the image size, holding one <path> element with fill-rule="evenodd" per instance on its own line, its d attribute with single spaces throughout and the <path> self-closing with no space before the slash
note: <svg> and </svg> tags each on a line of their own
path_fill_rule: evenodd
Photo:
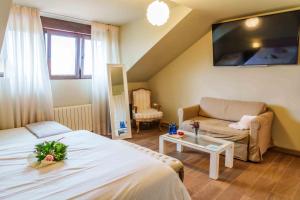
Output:
<svg viewBox="0 0 300 200">
<path fill-rule="evenodd" d="M 209 30 L 212 21 L 211 17 L 203 16 L 197 10 L 190 12 L 127 71 L 128 80 L 140 82 L 150 79 L 199 40 Z"/>
</svg>

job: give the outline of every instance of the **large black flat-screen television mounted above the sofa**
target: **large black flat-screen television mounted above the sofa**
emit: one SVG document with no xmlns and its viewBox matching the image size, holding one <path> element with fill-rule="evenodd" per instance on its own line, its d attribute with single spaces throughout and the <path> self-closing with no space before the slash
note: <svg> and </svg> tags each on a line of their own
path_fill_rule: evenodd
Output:
<svg viewBox="0 0 300 200">
<path fill-rule="evenodd" d="M 214 66 L 298 64 L 299 32 L 300 10 L 213 24 Z"/>
</svg>

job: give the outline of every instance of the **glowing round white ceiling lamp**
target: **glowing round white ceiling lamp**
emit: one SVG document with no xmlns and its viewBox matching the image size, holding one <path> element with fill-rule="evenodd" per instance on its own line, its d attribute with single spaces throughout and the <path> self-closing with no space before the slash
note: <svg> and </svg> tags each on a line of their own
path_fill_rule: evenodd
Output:
<svg viewBox="0 0 300 200">
<path fill-rule="evenodd" d="M 147 8 L 147 19 L 153 26 L 165 24 L 169 17 L 169 6 L 163 1 L 155 0 Z"/>
</svg>

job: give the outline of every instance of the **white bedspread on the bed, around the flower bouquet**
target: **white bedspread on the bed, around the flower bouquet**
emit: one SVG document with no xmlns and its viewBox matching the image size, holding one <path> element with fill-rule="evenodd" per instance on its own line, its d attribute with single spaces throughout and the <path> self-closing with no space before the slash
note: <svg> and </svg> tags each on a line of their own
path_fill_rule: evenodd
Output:
<svg viewBox="0 0 300 200">
<path fill-rule="evenodd" d="M 69 145 L 68 160 L 41 169 L 28 166 L 27 156 L 36 143 L 62 137 Z M 0 199 L 70 198 L 180 200 L 190 196 L 167 165 L 88 131 L 0 145 Z"/>
</svg>

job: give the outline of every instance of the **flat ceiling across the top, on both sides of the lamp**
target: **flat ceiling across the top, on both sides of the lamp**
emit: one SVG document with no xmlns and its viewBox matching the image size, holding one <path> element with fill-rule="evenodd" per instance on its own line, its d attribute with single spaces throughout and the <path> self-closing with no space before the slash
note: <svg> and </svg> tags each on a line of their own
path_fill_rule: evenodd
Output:
<svg viewBox="0 0 300 200">
<path fill-rule="evenodd" d="M 88 21 L 123 25 L 145 16 L 153 0 L 14 0 L 15 3 Z M 164 0 L 175 3 L 216 19 L 228 19 L 257 12 L 300 6 L 300 0 Z"/>
</svg>

